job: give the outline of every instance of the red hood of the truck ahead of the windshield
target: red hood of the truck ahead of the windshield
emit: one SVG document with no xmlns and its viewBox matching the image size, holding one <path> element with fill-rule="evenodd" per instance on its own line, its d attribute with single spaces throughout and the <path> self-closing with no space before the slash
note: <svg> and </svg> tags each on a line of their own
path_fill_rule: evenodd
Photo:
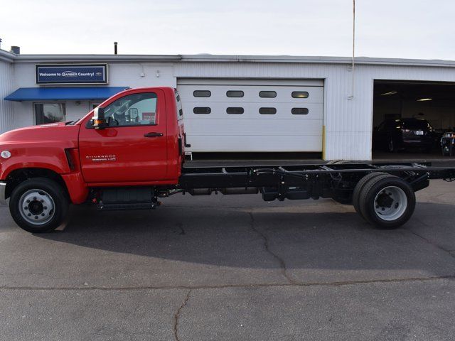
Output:
<svg viewBox="0 0 455 341">
<path fill-rule="evenodd" d="M 27 126 L 25 128 L 6 131 L 0 135 L 0 144 L 23 143 L 58 143 L 67 148 L 77 146 L 79 125 L 66 125 L 65 122 Z M 69 146 L 69 147 L 68 147 Z"/>
</svg>

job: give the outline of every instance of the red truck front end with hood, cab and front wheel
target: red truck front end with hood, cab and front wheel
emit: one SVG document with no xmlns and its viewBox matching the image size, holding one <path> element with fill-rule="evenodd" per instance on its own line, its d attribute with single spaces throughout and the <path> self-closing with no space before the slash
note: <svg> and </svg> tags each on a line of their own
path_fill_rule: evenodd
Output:
<svg viewBox="0 0 455 341">
<path fill-rule="evenodd" d="M 80 204 L 92 188 L 178 184 L 185 132 L 175 89 L 125 90 L 99 107 L 105 112 L 102 129 L 95 129 L 95 109 L 78 121 L 0 135 L 0 202 L 10 198 L 21 227 L 55 228 L 61 220 L 55 201 Z"/>
</svg>

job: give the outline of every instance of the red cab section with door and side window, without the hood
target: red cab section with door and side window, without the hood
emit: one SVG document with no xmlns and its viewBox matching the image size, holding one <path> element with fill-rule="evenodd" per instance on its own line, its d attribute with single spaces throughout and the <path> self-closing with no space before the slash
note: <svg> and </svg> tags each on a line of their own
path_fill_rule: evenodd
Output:
<svg viewBox="0 0 455 341">
<path fill-rule="evenodd" d="M 100 104 L 102 129 L 95 129 L 92 112 L 78 121 L 85 182 L 91 187 L 178 183 L 184 157 L 179 104 L 172 88 L 126 90 Z"/>
</svg>

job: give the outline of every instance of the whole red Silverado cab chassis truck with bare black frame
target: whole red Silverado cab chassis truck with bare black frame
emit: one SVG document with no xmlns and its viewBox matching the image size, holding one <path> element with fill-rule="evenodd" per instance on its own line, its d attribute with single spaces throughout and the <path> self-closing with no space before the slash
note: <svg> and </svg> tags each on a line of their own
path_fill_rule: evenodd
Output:
<svg viewBox="0 0 455 341">
<path fill-rule="evenodd" d="M 0 135 L 0 203 L 33 233 L 57 228 L 70 203 L 154 209 L 159 198 L 176 193 L 260 193 L 266 201 L 328 197 L 353 205 L 375 227 L 394 229 L 410 219 L 414 193 L 429 180 L 455 179 L 455 167 L 430 163 L 187 166 L 188 146 L 175 89 L 125 90 L 78 121 Z"/>
</svg>

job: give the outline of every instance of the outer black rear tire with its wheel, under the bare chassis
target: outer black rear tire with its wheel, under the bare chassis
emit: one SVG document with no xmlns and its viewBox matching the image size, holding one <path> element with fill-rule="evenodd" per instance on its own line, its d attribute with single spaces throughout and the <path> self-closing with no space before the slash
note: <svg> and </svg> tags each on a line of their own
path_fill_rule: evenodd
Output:
<svg viewBox="0 0 455 341">
<path fill-rule="evenodd" d="M 397 194 L 391 196 L 395 191 Z M 380 204 L 380 195 L 385 197 L 382 199 L 385 204 Z M 405 180 L 387 174 L 371 178 L 360 191 L 359 202 L 360 212 L 370 224 L 380 229 L 396 229 L 412 216 L 415 209 L 415 194 Z M 382 213 L 381 210 L 385 212 Z"/>
</svg>

